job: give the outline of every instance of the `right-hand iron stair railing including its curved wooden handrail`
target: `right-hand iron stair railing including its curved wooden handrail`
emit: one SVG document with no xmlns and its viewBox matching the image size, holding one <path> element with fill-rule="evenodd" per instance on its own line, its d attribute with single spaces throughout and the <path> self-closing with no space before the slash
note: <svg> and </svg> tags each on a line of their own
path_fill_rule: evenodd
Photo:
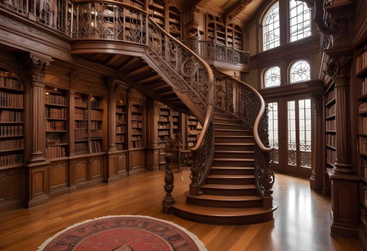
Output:
<svg viewBox="0 0 367 251">
<path fill-rule="evenodd" d="M 274 175 L 270 169 L 267 108 L 261 95 L 245 82 L 219 70 L 216 74 L 214 103 L 253 128 L 255 140 L 255 183 L 265 197 L 272 194 Z"/>
</svg>

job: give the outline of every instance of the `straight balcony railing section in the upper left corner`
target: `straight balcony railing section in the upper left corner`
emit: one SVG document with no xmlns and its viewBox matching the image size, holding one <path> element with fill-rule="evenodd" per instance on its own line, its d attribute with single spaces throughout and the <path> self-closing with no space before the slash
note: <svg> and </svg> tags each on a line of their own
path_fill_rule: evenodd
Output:
<svg viewBox="0 0 367 251">
<path fill-rule="evenodd" d="M 0 4 L 65 35 L 70 34 L 72 13 L 70 0 L 0 0 Z"/>
</svg>

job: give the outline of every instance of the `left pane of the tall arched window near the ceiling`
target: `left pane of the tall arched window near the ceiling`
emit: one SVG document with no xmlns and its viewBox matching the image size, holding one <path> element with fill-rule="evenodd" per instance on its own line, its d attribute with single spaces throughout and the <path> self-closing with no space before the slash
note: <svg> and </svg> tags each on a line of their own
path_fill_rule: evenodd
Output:
<svg viewBox="0 0 367 251">
<path fill-rule="evenodd" d="M 262 50 L 280 45 L 279 2 L 275 3 L 262 20 Z"/>
</svg>

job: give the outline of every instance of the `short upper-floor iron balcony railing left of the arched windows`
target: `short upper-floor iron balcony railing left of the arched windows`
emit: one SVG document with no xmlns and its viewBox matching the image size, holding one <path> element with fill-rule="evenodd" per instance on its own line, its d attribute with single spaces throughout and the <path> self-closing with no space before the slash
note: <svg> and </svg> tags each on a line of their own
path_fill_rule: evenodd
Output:
<svg viewBox="0 0 367 251">
<path fill-rule="evenodd" d="M 204 59 L 213 58 L 231 63 L 248 64 L 249 52 L 216 43 L 214 41 L 199 40 L 199 53 Z"/>
</svg>

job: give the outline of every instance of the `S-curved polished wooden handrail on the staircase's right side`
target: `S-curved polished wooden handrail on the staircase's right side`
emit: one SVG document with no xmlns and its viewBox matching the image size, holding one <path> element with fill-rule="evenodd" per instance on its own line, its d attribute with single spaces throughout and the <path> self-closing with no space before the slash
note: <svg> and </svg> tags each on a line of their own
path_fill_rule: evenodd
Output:
<svg viewBox="0 0 367 251">
<path fill-rule="evenodd" d="M 219 71 L 219 70 L 218 70 Z M 265 112 L 265 101 L 264 99 L 262 98 L 262 96 L 260 95 L 259 92 L 257 92 L 256 89 L 254 89 L 253 87 L 251 87 L 250 85 L 248 85 L 247 83 L 227 74 L 227 73 L 224 73 L 222 71 L 219 71 L 221 74 L 225 75 L 226 77 L 230 78 L 231 80 L 233 81 L 236 81 L 237 83 L 239 83 L 240 85 L 244 86 L 245 88 L 251 90 L 252 93 L 254 93 L 256 95 L 256 97 L 259 99 L 259 102 L 260 102 L 260 110 L 259 110 L 259 113 L 256 117 L 256 120 L 254 122 L 254 125 L 253 125 L 253 137 L 255 139 L 255 142 L 256 142 L 256 145 L 260 148 L 260 150 L 262 152 L 271 152 L 273 150 L 273 148 L 269 148 L 269 147 L 266 147 L 263 142 L 261 141 L 260 137 L 259 137 L 259 125 L 260 125 L 260 122 L 261 122 L 261 119 L 262 119 L 262 116 L 264 115 L 264 112 Z"/>
</svg>

